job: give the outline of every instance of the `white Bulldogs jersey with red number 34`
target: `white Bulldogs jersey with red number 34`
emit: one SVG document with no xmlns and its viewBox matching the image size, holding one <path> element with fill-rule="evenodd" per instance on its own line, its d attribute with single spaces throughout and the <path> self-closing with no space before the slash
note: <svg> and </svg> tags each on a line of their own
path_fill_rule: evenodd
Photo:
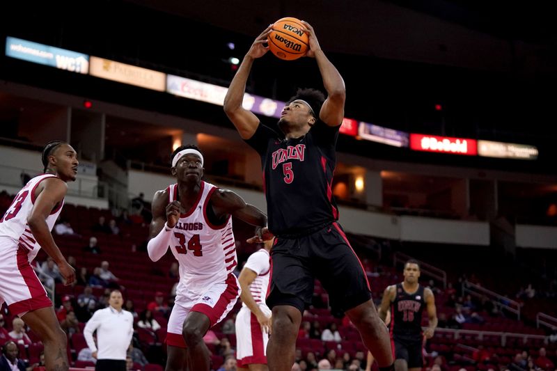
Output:
<svg viewBox="0 0 557 371">
<path fill-rule="evenodd" d="M 216 190 L 202 181 L 197 202 L 180 215 L 172 230 L 170 248 L 180 264 L 177 300 L 186 292 L 204 292 L 213 283 L 225 282 L 237 265 L 232 218 L 228 216 L 221 226 L 207 220 L 207 203 Z M 172 184 L 167 191 L 168 202 L 176 200 L 178 184 Z"/>
</svg>

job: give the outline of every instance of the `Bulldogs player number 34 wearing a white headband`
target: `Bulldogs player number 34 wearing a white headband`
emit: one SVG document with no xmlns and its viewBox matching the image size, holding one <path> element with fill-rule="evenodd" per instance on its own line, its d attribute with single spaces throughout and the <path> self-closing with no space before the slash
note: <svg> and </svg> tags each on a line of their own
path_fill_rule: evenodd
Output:
<svg viewBox="0 0 557 371">
<path fill-rule="evenodd" d="M 166 370 L 209 370 L 207 330 L 219 323 L 240 296 L 232 219 L 267 226 L 267 216 L 237 194 L 203 182 L 203 155 L 182 145 L 171 157 L 176 183 L 152 201 L 149 258 L 156 262 L 168 247 L 180 264 L 175 305 L 168 319 Z"/>
</svg>

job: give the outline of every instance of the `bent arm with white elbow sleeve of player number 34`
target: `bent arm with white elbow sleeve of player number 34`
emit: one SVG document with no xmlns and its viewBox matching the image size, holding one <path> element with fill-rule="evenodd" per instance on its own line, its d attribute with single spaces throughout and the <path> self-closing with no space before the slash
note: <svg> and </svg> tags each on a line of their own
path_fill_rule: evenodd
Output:
<svg viewBox="0 0 557 371">
<path fill-rule="evenodd" d="M 157 191 L 152 199 L 152 221 L 149 229 L 147 252 L 149 258 L 156 262 L 168 250 L 172 230 L 180 217 L 180 203 L 168 203 L 168 193 Z"/>
</svg>

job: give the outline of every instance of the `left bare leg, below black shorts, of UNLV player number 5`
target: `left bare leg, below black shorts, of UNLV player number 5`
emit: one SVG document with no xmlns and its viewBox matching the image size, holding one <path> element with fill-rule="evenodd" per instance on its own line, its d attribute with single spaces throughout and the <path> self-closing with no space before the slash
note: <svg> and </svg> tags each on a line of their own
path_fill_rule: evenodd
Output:
<svg viewBox="0 0 557 371">
<path fill-rule="evenodd" d="M 298 298 L 291 299 L 295 301 Z M 303 301 L 299 301 L 303 305 Z M 267 364 L 270 370 L 292 370 L 296 358 L 296 338 L 301 324 L 301 310 L 289 305 L 273 307 L 273 333 L 267 345 Z"/>
</svg>

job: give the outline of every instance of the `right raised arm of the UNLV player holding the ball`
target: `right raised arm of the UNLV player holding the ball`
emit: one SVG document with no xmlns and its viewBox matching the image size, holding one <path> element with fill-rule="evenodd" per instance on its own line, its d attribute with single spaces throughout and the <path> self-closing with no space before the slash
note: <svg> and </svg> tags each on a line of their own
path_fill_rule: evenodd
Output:
<svg viewBox="0 0 557 371">
<path fill-rule="evenodd" d="M 329 126 L 338 126 L 343 123 L 344 103 L 346 100 L 346 88 L 343 77 L 340 76 L 340 72 L 325 56 L 319 41 L 317 41 L 313 27 L 308 22 L 301 22 L 306 26 L 304 32 L 308 33 L 309 37 L 310 49 L 306 55 L 317 60 L 317 66 L 323 78 L 323 85 L 325 90 L 327 90 L 327 100 L 325 100 L 321 107 L 319 118 Z"/>
</svg>

